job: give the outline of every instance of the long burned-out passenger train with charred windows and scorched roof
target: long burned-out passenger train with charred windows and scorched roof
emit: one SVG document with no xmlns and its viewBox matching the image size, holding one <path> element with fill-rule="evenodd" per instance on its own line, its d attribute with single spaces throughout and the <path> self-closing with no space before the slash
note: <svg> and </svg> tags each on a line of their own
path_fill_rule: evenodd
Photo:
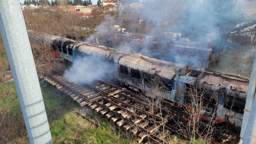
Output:
<svg viewBox="0 0 256 144">
<path fill-rule="evenodd" d="M 195 103 L 204 100 L 203 119 L 215 123 L 229 121 L 241 127 L 249 79 L 223 73 L 185 67 L 180 64 L 156 60 L 143 55 L 123 52 L 105 46 L 78 42 L 58 36 L 43 35 L 52 44 L 53 53 L 74 61 L 78 57 L 96 56 L 112 63 L 111 79 L 152 96 L 158 95 L 191 111 Z M 207 105 L 206 105 L 207 104 Z"/>
</svg>

